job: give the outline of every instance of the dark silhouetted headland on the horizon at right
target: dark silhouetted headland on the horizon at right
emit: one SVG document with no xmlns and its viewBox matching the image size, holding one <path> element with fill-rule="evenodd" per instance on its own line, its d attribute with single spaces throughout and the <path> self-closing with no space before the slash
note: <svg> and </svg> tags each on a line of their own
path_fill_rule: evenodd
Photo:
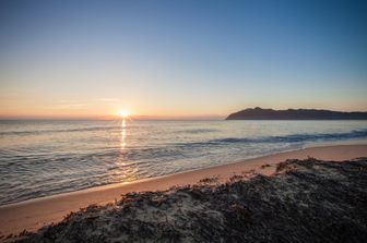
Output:
<svg viewBox="0 0 367 243">
<path fill-rule="evenodd" d="M 316 109 L 273 110 L 257 107 L 232 113 L 226 120 L 367 120 L 367 112 Z"/>
</svg>

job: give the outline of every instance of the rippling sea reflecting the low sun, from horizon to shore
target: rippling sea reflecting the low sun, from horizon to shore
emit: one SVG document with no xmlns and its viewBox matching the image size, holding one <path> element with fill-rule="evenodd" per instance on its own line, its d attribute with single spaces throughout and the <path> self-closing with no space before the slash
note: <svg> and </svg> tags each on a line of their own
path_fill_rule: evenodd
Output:
<svg viewBox="0 0 367 243">
<path fill-rule="evenodd" d="M 367 121 L 0 121 L 0 205 L 367 139 Z"/>
</svg>

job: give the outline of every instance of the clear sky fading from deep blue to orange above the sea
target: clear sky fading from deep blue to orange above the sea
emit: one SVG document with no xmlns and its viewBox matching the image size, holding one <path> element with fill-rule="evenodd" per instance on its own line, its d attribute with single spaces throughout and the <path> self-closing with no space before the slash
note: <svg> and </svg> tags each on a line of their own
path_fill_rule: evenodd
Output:
<svg viewBox="0 0 367 243">
<path fill-rule="evenodd" d="M 0 118 L 367 111 L 366 1 L 0 1 Z"/>
</svg>

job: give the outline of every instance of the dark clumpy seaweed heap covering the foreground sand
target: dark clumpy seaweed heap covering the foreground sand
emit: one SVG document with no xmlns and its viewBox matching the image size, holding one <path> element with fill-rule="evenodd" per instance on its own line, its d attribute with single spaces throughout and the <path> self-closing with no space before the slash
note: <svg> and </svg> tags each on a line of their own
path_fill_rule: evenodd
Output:
<svg viewBox="0 0 367 243">
<path fill-rule="evenodd" d="M 365 242 L 367 158 L 287 160 L 272 177 L 241 173 L 92 205 L 19 242 Z"/>
</svg>

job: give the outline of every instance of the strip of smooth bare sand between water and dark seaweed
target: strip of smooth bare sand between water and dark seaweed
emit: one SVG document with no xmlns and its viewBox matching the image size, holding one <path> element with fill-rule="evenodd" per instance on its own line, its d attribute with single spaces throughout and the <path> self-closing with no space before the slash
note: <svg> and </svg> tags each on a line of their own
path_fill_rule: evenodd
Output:
<svg viewBox="0 0 367 243">
<path fill-rule="evenodd" d="M 23 230 L 35 231 L 46 224 L 60 221 L 70 211 L 76 211 L 91 204 L 115 202 L 120 199 L 121 194 L 129 192 L 167 190 L 174 185 L 194 184 L 201 179 L 212 177 L 218 178 L 220 181 L 225 181 L 234 174 L 250 170 L 270 175 L 275 170 L 275 163 L 286 159 L 306 159 L 307 157 L 334 161 L 367 157 L 367 145 L 311 147 L 225 166 L 5 205 L 0 207 L 0 234 L 17 234 Z M 261 167 L 262 165 L 270 165 L 270 167 Z"/>
</svg>

